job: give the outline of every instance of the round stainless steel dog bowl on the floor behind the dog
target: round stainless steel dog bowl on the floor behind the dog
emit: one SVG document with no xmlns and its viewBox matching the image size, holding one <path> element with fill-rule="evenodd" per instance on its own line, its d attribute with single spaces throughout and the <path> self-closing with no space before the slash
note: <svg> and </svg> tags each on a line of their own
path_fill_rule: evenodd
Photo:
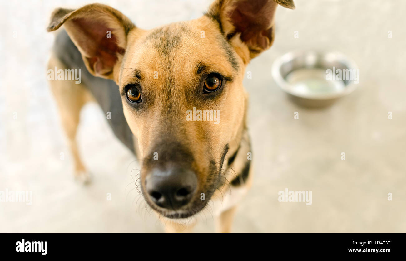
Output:
<svg viewBox="0 0 406 261">
<path fill-rule="evenodd" d="M 335 79 L 339 78 L 336 74 L 339 70 L 344 73 L 341 79 Z M 332 74 L 335 74 L 334 79 Z M 275 60 L 272 76 L 294 102 L 307 107 L 330 105 L 336 99 L 354 91 L 358 86 L 357 81 L 359 82 L 356 64 L 336 52 L 286 53 Z M 358 79 L 355 81 L 356 77 Z"/>
</svg>

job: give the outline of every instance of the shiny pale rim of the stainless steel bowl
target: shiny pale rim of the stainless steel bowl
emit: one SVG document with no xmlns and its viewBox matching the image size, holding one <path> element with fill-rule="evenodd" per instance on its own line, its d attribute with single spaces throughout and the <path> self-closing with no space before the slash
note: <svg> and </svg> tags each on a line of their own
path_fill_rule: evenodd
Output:
<svg viewBox="0 0 406 261">
<path fill-rule="evenodd" d="M 313 100 L 330 100 L 330 99 L 335 99 L 335 98 L 340 98 L 342 96 L 348 95 L 351 92 L 353 92 L 356 88 L 358 88 L 359 83 L 350 83 L 346 86 L 346 88 L 341 91 L 341 92 L 335 92 L 335 93 L 325 93 L 325 94 L 317 94 L 317 95 L 312 95 L 312 93 L 308 94 L 302 94 L 302 93 L 297 93 L 293 90 L 292 85 L 289 84 L 281 75 L 280 73 L 280 68 L 283 64 L 291 61 L 292 59 L 298 57 L 298 56 L 308 56 L 308 55 L 317 55 L 317 56 L 327 56 L 327 55 L 333 55 L 336 57 L 336 60 L 345 64 L 347 68 L 351 69 L 359 69 L 357 64 L 348 58 L 346 55 L 343 53 L 340 53 L 338 51 L 316 51 L 316 50 L 300 50 L 300 51 L 289 51 L 278 58 L 274 60 L 272 64 L 272 77 L 278 84 L 278 86 L 284 91 L 287 92 L 288 94 L 292 94 L 293 96 L 299 97 L 299 98 L 305 98 L 305 99 L 313 99 Z"/>
</svg>

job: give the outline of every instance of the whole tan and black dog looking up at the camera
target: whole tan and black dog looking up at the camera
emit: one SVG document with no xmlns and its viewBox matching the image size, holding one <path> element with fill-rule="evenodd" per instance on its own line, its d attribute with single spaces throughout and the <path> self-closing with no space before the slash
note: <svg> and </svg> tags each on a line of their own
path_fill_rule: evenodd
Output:
<svg viewBox="0 0 406 261">
<path fill-rule="evenodd" d="M 140 160 L 142 195 L 166 231 L 191 231 L 212 200 L 216 232 L 230 232 L 252 183 L 242 81 L 251 59 L 273 43 L 278 5 L 295 7 L 216 0 L 199 19 L 152 30 L 103 4 L 56 9 L 47 30 L 64 29 L 48 67 L 82 71 L 80 83 L 50 81 L 76 178 L 89 181 L 75 141 L 80 109 L 96 101 Z"/>
</svg>

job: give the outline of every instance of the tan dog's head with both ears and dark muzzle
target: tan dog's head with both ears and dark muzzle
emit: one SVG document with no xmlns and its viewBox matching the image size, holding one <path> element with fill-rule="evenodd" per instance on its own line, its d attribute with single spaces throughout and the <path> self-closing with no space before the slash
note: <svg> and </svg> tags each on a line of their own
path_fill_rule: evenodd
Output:
<svg viewBox="0 0 406 261">
<path fill-rule="evenodd" d="M 221 184 L 229 144 L 244 128 L 244 70 L 272 45 L 278 4 L 294 8 L 292 0 L 216 0 L 199 19 L 148 31 L 102 4 L 52 14 L 48 31 L 64 24 L 89 72 L 119 86 L 143 195 L 162 215 L 192 216 Z"/>
</svg>

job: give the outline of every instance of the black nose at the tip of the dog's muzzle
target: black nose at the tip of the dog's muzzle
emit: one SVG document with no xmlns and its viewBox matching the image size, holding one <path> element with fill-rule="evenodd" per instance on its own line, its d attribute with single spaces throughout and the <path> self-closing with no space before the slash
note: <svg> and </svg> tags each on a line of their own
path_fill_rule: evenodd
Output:
<svg viewBox="0 0 406 261">
<path fill-rule="evenodd" d="M 152 201 L 161 208 L 176 210 L 190 202 L 197 178 L 185 169 L 154 169 L 145 179 L 145 188 Z"/>
</svg>

